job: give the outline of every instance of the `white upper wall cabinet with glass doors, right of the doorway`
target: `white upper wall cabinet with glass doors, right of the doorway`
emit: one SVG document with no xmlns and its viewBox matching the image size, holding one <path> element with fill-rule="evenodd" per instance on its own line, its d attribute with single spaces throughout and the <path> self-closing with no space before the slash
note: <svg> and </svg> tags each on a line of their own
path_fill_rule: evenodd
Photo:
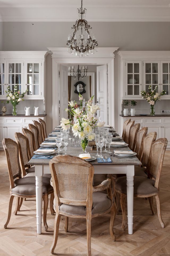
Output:
<svg viewBox="0 0 170 256">
<path fill-rule="evenodd" d="M 121 98 L 141 99 L 141 91 L 158 86 L 170 99 L 170 51 L 119 51 L 121 57 Z"/>
</svg>

